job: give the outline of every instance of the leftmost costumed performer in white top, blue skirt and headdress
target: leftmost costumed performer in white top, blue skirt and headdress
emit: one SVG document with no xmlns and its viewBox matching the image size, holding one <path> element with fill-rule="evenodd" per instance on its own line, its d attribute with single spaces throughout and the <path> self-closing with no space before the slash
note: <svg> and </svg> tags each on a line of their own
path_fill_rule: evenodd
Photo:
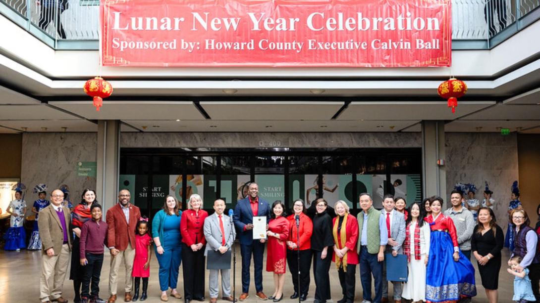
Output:
<svg viewBox="0 0 540 303">
<path fill-rule="evenodd" d="M 17 214 L 18 217 L 11 216 L 10 228 L 4 235 L 4 250 L 20 250 L 26 247 L 26 231 L 24 230 L 24 209 L 26 202 L 22 199 L 14 200 L 9 203 L 8 209 Z"/>
</svg>

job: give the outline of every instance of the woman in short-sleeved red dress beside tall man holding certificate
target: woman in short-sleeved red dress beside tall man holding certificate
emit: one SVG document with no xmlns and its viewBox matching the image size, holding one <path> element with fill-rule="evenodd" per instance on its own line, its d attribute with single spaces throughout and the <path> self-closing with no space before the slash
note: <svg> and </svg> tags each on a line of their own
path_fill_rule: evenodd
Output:
<svg viewBox="0 0 540 303">
<path fill-rule="evenodd" d="M 274 302 L 283 299 L 283 285 L 285 284 L 285 259 L 289 237 L 289 221 L 285 217 L 285 204 L 275 201 L 272 204 L 271 220 L 268 223 L 268 252 L 266 256 L 266 271 L 274 273 L 274 294 L 268 297 Z"/>
</svg>

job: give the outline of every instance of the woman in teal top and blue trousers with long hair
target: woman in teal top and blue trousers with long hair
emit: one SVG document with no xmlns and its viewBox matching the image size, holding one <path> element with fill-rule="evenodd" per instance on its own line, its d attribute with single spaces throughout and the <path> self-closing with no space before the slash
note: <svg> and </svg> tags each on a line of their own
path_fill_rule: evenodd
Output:
<svg viewBox="0 0 540 303">
<path fill-rule="evenodd" d="M 181 218 L 182 211 L 179 210 L 177 199 L 167 196 L 163 209 L 158 211 L 152 220 L 152 237 L 156 244 L 156 257 L 159 263 L 159 287 L 162 301 L 168 300 L 169 288 L 171 288 L 172 297 L 182 298 L 176 290 L 182 260 Z"/>
</svg>

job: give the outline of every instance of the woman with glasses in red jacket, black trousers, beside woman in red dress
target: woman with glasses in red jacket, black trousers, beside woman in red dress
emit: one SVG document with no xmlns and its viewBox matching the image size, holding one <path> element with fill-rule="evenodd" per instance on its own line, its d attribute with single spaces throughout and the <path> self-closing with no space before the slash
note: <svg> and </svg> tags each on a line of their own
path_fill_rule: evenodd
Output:
<svg viewBox="0 0 540 303">
<path fill-rule="evenodd" d="M 293 276 L 294 293 L 291 299 L 300 296 L 300 301 L 305 301 L 309 290 L 309 270 L 311 268 L 311 234 L 313 222 L 306 215 L 306 206 L 302 199 L 296 199 L 293 204 L 293 214 L 288 216 L 289 239 L 287 240 L 287 263 Z M 300 226 L 296 227 L 296 216 L 300 218 Z M 298 234 L 300 233 L 300 245 Z M 300 264 L 298 264 L 298 250 L 300 246 Z M 298 285 L 298 267 L 300 266 L 300 286 Z M 300 290 L 299 288 L 300 287 Z"/>
</svg>

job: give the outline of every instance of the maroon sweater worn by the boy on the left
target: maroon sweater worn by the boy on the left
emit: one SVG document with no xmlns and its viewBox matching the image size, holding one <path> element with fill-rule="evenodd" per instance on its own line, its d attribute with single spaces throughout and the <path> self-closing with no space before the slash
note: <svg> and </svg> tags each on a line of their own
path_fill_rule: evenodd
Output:
<svg viewBox="0 0 540 303">
<path fill-rule="evenodd" d="M 86 258 L 86 253 L 102 254 L 107 243 L 107 223 L 90 219 L 83 224 L 80 230 L 80 258 Z"/>
</svg>

